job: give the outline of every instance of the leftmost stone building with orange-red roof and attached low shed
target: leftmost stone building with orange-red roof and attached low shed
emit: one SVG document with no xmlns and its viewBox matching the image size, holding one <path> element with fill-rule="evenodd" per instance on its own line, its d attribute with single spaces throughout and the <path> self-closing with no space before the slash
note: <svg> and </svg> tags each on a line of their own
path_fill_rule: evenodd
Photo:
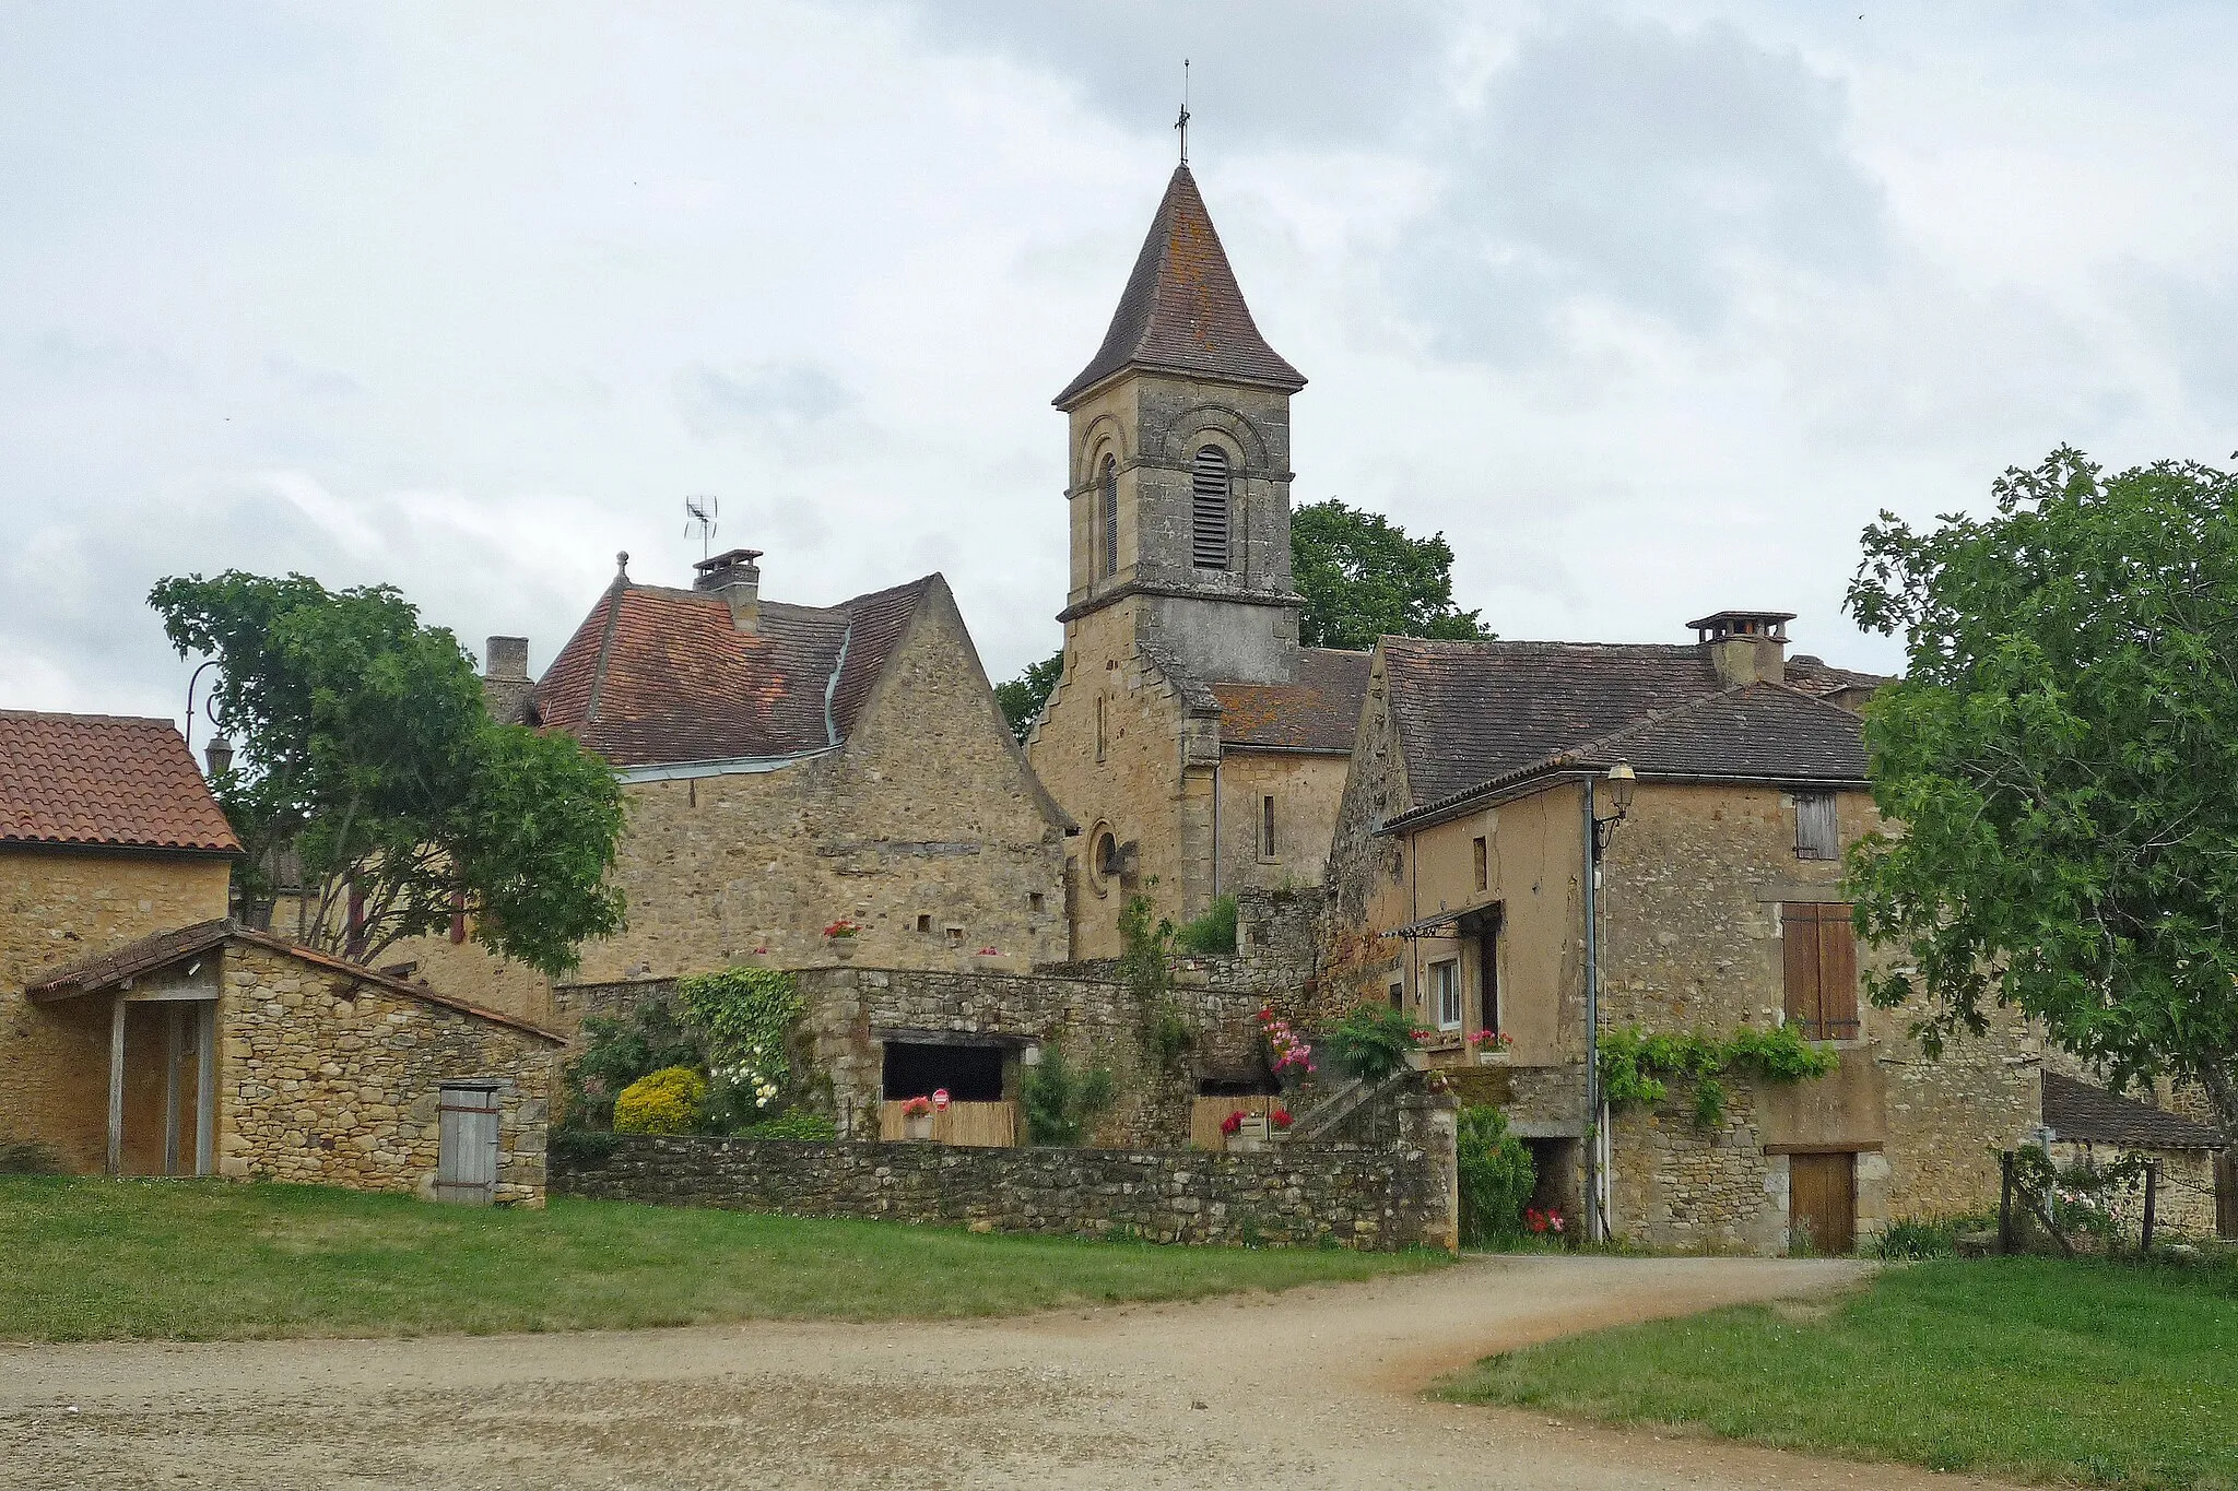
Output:
<svg viewBox="0 0 2238 1491">
<path fill-rule="evenodd" d="M 560 1037 L 239 928 L 237 854 L 168 720 L 0 713 L 0 1142 L 542 1203 Z"/>
</svg>

